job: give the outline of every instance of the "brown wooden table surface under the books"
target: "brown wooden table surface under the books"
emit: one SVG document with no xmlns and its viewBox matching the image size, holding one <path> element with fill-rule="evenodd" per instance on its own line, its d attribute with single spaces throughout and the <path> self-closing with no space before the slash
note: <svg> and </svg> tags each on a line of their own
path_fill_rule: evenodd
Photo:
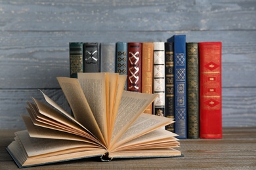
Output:
<svg viewBox="0 0 256 170">
<path fill-rule="evenodd" d="M 5 150 L 14 131 L 0 130 L 0 169 L 18 169 Z M 30 169 L 256 169 L 256 127 L 223 128 L 223 139 L 183 139 L 180 150 L 184 157 L 110 162 L 85 159 Z"/>
</svg>

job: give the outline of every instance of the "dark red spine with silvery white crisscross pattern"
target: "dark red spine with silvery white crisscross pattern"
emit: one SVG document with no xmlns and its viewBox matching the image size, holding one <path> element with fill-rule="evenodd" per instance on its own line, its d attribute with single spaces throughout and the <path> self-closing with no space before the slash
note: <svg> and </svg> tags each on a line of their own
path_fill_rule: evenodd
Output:
<svg viewBox="0 0 256 170">
<path fill-rule="evenodd" d="M 141 69 L 142 69 L 142 43 L 128 42 L 127 61 L 127 90 L 132 92 L 141 91 Z"/>
</svg>

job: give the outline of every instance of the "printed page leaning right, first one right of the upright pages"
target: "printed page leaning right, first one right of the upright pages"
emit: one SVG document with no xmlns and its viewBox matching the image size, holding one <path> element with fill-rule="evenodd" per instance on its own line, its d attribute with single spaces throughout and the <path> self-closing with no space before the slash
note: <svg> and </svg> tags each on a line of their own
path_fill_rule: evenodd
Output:
<svg viewBox="0 0 256 170">
<path fill-rule="evenodd" d="M 156 99 L 157 94 L 123 91 L 112 133 L 111 146 Z"/>
</svg>

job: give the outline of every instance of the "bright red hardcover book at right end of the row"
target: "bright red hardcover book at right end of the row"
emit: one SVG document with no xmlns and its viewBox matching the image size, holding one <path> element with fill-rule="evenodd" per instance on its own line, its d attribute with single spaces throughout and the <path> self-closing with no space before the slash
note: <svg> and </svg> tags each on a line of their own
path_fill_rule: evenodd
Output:
<svg viewBox="0 0 256 170">
<path fill-rule="evenodd" d="M 221 42 L 199 42 L 200 138 L 222 138 Z"/>
</svg>

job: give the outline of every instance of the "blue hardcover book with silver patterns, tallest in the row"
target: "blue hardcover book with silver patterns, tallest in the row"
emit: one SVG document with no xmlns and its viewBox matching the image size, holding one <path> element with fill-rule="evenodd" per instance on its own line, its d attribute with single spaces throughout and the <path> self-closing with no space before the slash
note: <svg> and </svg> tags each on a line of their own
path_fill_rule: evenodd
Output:
<svg viewBox="0 0 256 170">
<path fill-rule="evenodd" d="M 174 43 L 175 133 L 186 139 L 186 35 L 173 35 L 167 42 Z"/>
</svg>

